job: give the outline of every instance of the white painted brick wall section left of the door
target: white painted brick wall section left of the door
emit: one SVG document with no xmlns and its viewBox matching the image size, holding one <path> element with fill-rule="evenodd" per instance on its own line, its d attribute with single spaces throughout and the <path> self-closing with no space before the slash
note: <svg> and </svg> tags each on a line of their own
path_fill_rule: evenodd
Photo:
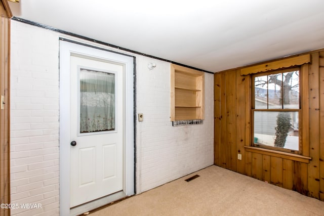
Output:
<svg viewBox="0 0 324 216">
<path fill-rule="evenodd" d="M 12 215 L 59 213 L 59 41 L 50 31 L 12 21 L 11 203 Z"/>
</svg>

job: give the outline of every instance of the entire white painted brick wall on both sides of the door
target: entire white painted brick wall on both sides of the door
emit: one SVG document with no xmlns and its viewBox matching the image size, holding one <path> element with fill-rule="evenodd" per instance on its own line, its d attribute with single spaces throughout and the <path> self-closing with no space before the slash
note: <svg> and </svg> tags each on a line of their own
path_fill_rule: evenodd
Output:
<svg viewBox="0 0 324 216">
<path fill-rule="evenodd" d="M 12 209 L 13 215 L 59 214 L 60 36 L 111 49 L 12 21 L 11 203 L 42 204 L 41 209 Z M 144 121 L 136 122 L 141 193 L 213 164 L 214 79 L 205 74 L 204 124 L 173 127 L 170 63 L 131 55 L 136 56 L 136 109 L 144 114 Z M 149 70 L 149 62 L 156 68 Z"/>
</svg>

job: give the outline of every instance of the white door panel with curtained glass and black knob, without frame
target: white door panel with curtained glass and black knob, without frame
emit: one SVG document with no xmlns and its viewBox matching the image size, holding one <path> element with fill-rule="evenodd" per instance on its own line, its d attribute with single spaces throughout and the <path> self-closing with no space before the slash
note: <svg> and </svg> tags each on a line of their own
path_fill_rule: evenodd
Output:
<svg viewBox="0 0 324 216">
<path fill-rule="evenodd" d="M 70 207 L 123 190 L 123 66 L 71 56 Z"/>
</svg>

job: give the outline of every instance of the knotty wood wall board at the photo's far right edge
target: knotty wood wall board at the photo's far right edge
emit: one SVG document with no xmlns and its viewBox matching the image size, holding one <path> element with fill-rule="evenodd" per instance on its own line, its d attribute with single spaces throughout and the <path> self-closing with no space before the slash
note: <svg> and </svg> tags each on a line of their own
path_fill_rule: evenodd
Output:
<svg viewBox="0 0 324 216">
<path fill-rule="evenodd" d="M 319 199 L 324 201 L 324 51 L 319 53 Z"/>
</svg>

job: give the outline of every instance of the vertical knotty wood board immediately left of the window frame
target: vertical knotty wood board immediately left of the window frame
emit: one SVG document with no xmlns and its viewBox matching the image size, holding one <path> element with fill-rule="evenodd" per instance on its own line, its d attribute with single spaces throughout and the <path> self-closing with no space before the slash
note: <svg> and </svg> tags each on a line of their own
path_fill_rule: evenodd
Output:
<svg viewBox="0 0 324 216">
<path fill-rule="evenodd" d="M 238 106 L 244 104 L 245 97 L 245 77 L 236 71 L 236 155 L 244 152 L 245 145 L 245 107 Z M 245 173 L 245 157 L 236 160 L 236 171 L 240 174 Z"/>
</svg>

